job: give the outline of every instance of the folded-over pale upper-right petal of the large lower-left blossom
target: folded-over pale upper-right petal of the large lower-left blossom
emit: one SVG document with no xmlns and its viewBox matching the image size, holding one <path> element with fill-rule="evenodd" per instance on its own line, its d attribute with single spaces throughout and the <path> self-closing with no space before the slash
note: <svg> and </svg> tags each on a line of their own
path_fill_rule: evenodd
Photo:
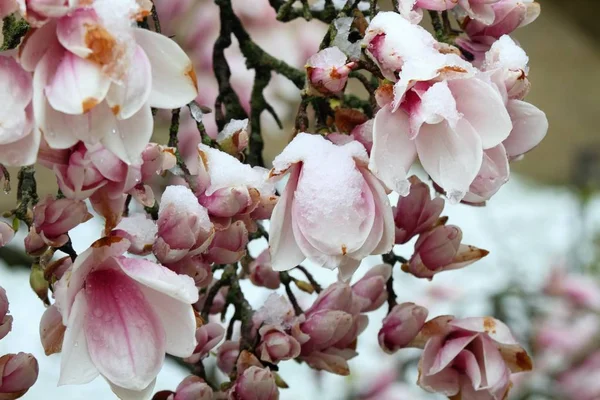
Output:
<svg viewBox="0 0 600 400">
<path fill-rule="evenodd" d="M 198 290 L 189 276 L 178 275 L 162 265 L 141 258 L 119 257 L 118 261 L 123 272 L 142 286 L 184 304 L 198 301 Z"/>
</svg>

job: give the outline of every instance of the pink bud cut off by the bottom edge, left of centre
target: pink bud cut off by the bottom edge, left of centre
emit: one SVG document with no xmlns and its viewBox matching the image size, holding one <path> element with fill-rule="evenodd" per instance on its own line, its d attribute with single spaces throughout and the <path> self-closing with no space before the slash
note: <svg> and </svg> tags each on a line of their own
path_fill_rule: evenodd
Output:
<svg viewBox="0 0 600 400">
<path fill-rule="evenodd" d="M 279 390 L 270 370 L 253 366 L 237 379 L 229 398 L 231 400 L 278 400 Z"/>
</svg>

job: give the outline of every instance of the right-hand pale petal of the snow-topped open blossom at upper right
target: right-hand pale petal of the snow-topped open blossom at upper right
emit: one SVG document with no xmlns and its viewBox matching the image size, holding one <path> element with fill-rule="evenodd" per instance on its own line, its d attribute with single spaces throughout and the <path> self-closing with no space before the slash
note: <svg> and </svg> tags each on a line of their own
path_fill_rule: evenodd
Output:
<svg viewBox="0 0 600 400">
<path fill-rule="evenodd" d="M 480 79 L 455 79 L 448 82 L 456 99 L 456 107 L 481 137 L 481 145 L 489 149 L 508 137 L 512 123 L 502 96 Z"/>
</svg>

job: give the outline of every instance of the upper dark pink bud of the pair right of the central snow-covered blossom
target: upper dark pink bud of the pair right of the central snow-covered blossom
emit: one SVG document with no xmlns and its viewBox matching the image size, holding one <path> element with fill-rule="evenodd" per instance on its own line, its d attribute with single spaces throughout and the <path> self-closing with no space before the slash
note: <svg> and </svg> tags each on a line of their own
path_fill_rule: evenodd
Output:
<svg viewBox="0 0 600 400">
<path fill-rule="evenodd" d="M 394 209 L 397 244 L 404 244 L 431 229 L 444 209 L 444 200 L 439 197 L 432 200 L 426 183 L 416 176 L 411 177 L 410 181 L 408 196 L 400 197 Z"/>
</svg>

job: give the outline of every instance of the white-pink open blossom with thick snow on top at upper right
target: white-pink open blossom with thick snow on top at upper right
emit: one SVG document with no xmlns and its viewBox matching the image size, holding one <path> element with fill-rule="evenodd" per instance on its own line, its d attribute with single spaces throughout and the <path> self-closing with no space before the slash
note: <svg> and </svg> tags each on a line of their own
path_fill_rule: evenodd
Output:
<svg viewBox="0 0 600 400">
<path fill-rule="evenodd" d="M 375 116 L 369 168 L 406 195 L 407 171 L 418 156 L 458 202 L 481 168 L 483 151 L 508 137 L 509 113 L 496 88 L 470 64 L 440 53 L 428 32 L 388 14 L 378 14 L 365 36 L 371 57 L 397 81 L 391 102 Z"/>
</svg>

